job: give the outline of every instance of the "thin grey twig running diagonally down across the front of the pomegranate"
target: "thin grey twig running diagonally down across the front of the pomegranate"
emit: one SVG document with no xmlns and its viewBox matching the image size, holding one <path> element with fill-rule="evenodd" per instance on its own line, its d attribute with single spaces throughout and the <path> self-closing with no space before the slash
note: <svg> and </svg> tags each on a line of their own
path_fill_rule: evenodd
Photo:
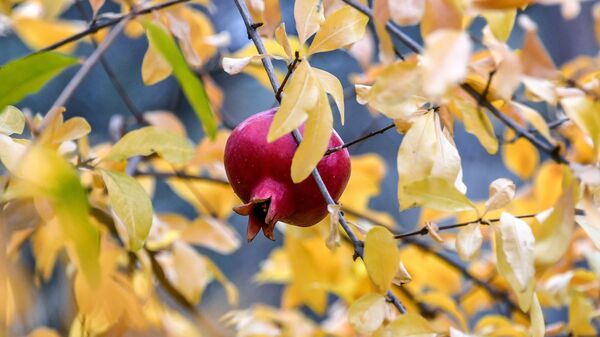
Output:
<svg viewBox="0 0 600 337">
<path fill-rule="evenodd" d="M 243 0 L 234 0 L 234 2 L 240 12 L 240 15 L 242 16 L 242 19 L 244 20 L 244 24 L 246 25 L 248 35 L 254 42 L 256 49 L 260 54 L 267 55 L 262 39 L 257 34 L 256 30 L 252 28 L 254 23 L 252 21 L 252 16 L 250 15 L 246 3 Z M 271 62 L 271 59 L 269 57 L 263 57 L 262 63 L 265 68 L 265 71 L 267 72 L 267 75 L 269 76 L 269 81 L 271 83 L 271 86 L 273 87 L 273 93 L 276 94 L 279 90 L 279 81 L 275 76 L 275 68 L 273 67 L 273 63 Z M 298 130 L 294 130 L 292 132 L 292 135 L 294 136 L 296 143 L 299 144 L 300 142 L 302 142 L 302 135 Z M 327 187 L 325 186 L 325 183 L 323 182 L 323 179 L 321 178 L 321 175 L 319 174 L 319 171 L 316 168 L 312 171 L 312 176 L 315 179 L 315 182 L 317 183 L 317 186 L 319 187 L 319 190 L 321 191 L 321 194 L 323 195 L 323 198 L 325 199 L 327 204 L 335 204 L 335 201 L 329 194 L 329 191 L 327 190 Z M 346 221 L 346 218 L 342 214 L 340 214 L 339 221 L 340 225 L 344 229 L 344 232 L 346 233 L 346 235 L 348 235 L 348 238 L 352 241 L 352 244 L 354 245 L 355 258 L 362 258 L 364 250 L 363 242 L 356 237 L 356 234 L 354 234 L 354 232 L 350 228 L 350 225 Z M 406 312 L 406 309 L 404 308 L 402 303 L 400 303 L 396 295 L 394 295 L 391 291 L 387 292 L 386 297 L 388 301 L 390 301 L 390 303 L 392 303 L 400 313 Z"/>
</svg>

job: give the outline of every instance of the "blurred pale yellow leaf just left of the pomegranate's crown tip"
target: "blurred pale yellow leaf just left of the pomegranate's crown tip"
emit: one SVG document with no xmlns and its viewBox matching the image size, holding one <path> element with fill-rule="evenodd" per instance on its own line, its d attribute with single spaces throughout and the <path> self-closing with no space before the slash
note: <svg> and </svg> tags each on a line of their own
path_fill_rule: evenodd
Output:
<svg viewBox="0 0 600 337">
<path fill-rule="evenodd" d="M 241 245 L 239 234 L 231 226 L 211 217 L 199 217 L 183 228 L 181 239 L 221 254 L 231 254 Z"/>
</svg>

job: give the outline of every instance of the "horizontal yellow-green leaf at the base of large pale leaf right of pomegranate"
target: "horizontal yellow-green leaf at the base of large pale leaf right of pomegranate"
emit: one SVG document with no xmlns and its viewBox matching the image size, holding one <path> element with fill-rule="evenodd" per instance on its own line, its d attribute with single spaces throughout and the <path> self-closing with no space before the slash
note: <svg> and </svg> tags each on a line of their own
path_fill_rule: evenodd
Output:
<svg viewBox="0 0 600 337">
<path fill-rule="evenodd" d="M 425 178 L 404 186 L 417 205 L 446 212 L 477 210 L 454 185 L 442 178 Z"/>
</svg>

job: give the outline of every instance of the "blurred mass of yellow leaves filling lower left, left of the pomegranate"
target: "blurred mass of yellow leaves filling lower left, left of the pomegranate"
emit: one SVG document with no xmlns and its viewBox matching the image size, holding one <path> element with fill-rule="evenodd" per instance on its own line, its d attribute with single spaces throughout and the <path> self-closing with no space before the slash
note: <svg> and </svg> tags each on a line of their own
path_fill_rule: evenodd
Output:
<svg viewBox="0 0 600 337">
<path fill-rule="evenodd" d="M 240 246 L 239 235 L 226 223 L 238 201 L 226 180 L 220 182 L 225 179 L 227 133 L 219 134 L 216 142 L 205 139 L 194 149 L 174 115 L 155 112 L 145 115 L 154 125 L 125 134 L 112 146 L 90 148 L 89 124 L 80 117 L 58 116 L 33 141 L 17 137 L 25 124 L 38 128 L 41 116 L 27 117 L 9 106 L 0 117 L 0 160 L 11 174 L 1 210 L 8 220 L 8 236 L 2 236 L 8 254 L 0 264 L 7 269 L 3 275 L 8 275 L 3 298 L 11 299 L 3 306 L 5 326 L 14 324 L 17 313 L 26 312 L 30 302 L 21 295 L 28 278 L 18 269 L 20 247 L 30 239 L 42 281 L 51 278 L 57 263 L 71 266 L 67 277 L 77 304 L 71 334 L 159 330 L 179 336 L 178 330 L 185 328 L 198 335 L 194 323 L 166 306 L 155 283 L 158 280 L 196 305 L 206 286 L 216 280 L 224 286 L 229 303 L 238 301 L 236 287 L 194 248 L 229 254 Z M 164 169 L 162 174 L 172 174 L 169 183 L 197 206 L 197 219 L 155 214 L 153 181 L 126 172 L 127 159 L 138 156 L 149 159 L 140 164 L 145 172 Z M 175 172 L 207 179 L 186 189 Z M 23 281 L 22 287 L 17 286 Z"/>
</svg>

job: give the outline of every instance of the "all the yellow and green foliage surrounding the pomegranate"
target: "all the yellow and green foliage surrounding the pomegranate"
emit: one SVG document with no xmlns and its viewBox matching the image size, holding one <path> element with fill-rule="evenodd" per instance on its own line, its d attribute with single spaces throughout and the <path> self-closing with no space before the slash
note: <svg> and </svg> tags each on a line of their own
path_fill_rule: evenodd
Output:
<svg viewBox="0 0 600 337">
<path fill-rule="evenodd" d="M 557 67 L 522 12 L 560 3 L 565 19 L 593 15 L 600 44 L 598 3 L 579 13 L 578 0 L 374 0 L 372 8 L 364 0 L 295 0 L 289 32 L 296 35 L 288 35 L 278 0 L 235 0 L 253 41 L 228 53 L 210 0 L 114 1 L 122 13 L 89 0 L 88 28 L 63 18 L 67 0 L 0 1 L 1 15 L 34 51 L 0 68 L 2 336 L 218 336 L 227 333 L 223 325 L 237 336 L 598 333 L 600 60 L 579 56 Z M 486 25 L 473 41 L 478 18 Z M 525 35 L 513 50 L 506 41 L 516 23 Z M 411 25 L 419 25 L 423 47 L 403 33 Z M 130 107 L 135 124 L 119 125 L 114 142 L 90 144 L 92 126 L 65 120 L 61 106 L 42 115 L 11 105 L 74 66 L 67 54 L 87 40 L 97 49 L 57 102 L 68 99 L 83 70 L 102 59 L 110 27 L 148 39 L 141 78 L 177 79 L 206 134 L 198 144 L 173 112 L 139 115 Z M 397 42 L 413 53 L 400 54 Z M 353 156 L 330 216 L 310 228 L 281 226 L 282 246 L 260 264 L 254 281 L 282 285 L 281 305 L 236 309 L 236 285 L 196 249 L 227 255 L 241 247 L 228 224 L 240 204 L 223 168 L 229 131 L 218 125 L 227 88 L 205 70 L 220 59 L 223 71 L 274 89 L 280 107 L 268 141 L 305 123 L 290 172 L 301 182 L 339 150 L 327 148 L 332 106 L 342 124 L 353 122 L 343 81 L 312 61 L 339 50 L 362 67 L 350 78 L 357 101 L 393 123 L 346 146 L 397 131 L 399 207 L 420 208 L 419 223 L 400 233 L 392 216 L 370 207 L 390 173 L 377 154 Z M 501 152 L 525 183 L 490 177 L 489 198 L 470 200 L 457 127 L 489 154 Z M 153 209 L 159 179 L 195 209 L 194 219 Z M 29 326 L 24 317 L 41 305 L 39 288 L 56 271 L 72 292 L 62 331 Z M 232 306 L 223 324 L 201 312 L 212 281 Z M 566 315 L 548 315 L 553 309 Z"/>
</svg>

